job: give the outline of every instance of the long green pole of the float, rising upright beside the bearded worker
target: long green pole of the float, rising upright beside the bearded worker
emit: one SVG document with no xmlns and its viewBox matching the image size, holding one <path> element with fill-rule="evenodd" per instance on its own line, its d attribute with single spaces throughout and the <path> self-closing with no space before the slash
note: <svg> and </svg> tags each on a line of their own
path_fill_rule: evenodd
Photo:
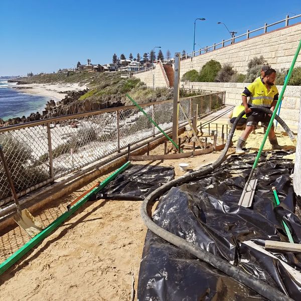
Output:
<svg viewBox="0 0 301 301">
<path fill-rule="evenodd" d="M 288 81 L 289 81 L 289 79 L 290 79 L 292 69 L 293 69 L 293 67 L 294 67 L 294 64 L 295 64 L 295 62 L 296 62 L 296 59 L 297 59 L 298 54 L 299 54 L 299 52 L 300 52 L 300 48 L 301 48 L 301 40 L 299 41 L 298 48 L 297 48 L 297 50 L 296 50 L 296 52 L 295 52 L 295 55 L 294 55 L 294 57 L 293 57 L 293 60 L 292 60 L 292 62 L 291 62 L 291 65 L 290 65 L 290 67 L 289 67 L 289 71 L 288 71 L 287 76 L 286 76 L 286 78 L 285 78 L 285 81 L 284 81 L 282 90 L 281 90 L 280 95 L 279 95 L 279 97 L 278 97 L 278 101 L 277 101 L 277 103 L 276 103 L 276 106 L 275 106 L 275 108 L 274 108 L 273 114 L 272 114 L 272 116 L 271 116 L 271 120 L 270 120 L 270 122 L 269 122 L 269 124 L 268 124 L 268 127 L 267 127 L 267 129 L 266 129 L 265 135 L 264 135 L 264 137 L 263 137 L 263 140 L 262 140 L 262 142 L 261 142 L 260 148 L 259 148 L 259 150 L 258 150 L 256 159 L 255 159 L 255 161 L 254 161 L 254 164 L 253 164 L 253 167 L 252 167 L 252 170 L 251 170 L 251 173 L 250 173 L 249 178 L 248 178 L 248 180 L 247 180 L 247 182 L 246 182 L 246 185 L 245 185 L 245 187 L 244 187 L 244 189 L 243 189 L 243 193 L 242 193 L 243 195 L 246 193 L 246 189 L 247 189 L 247 187 L 248 187 L 248 185 L 249 185 L 249 183 L 250 183 L 250 181 L 251 181 L 251 178 L 252 178 L 252 176 L 253 176 L 253 174 L 254 174 L 255 168 L 256 168 L 256 166 L 257 166 L 257 164 L 258 164 L 258 160 L 259 160 L 259 158 L 260 158 L 260 155 L 261 155 L 263 146 L 264 146 L 264 144 L 265 144 L 265 141 L 266 141 L 266 138 L 267 138 L 267 136 L 268 136 L 268 133 L 269 133 L 269 131 L 270 131 L 272 125 L 273 125 L 273 121 L 274 121 L 275 115 L 276 115 L 277 110 L 278 110 L 278 107 L 279 107 L 279 105 L 280 105 L 280 103 L 281 103 L 281 99 L 282 99 L 282 97 L 283 97 L 283 94 L 284 94 L 285 88 L 286 88 L 286 86 L 287 86 L 287 83 L 288 83 Z"/>
</svg>

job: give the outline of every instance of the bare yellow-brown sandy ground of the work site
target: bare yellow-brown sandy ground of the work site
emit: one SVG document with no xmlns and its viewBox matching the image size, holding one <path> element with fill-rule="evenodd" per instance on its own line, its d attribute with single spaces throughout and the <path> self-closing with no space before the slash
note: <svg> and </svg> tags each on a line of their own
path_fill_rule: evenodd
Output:
<svg viewBox="0 0 301 301">
<path fill-rule="evenodd" d="M 218 122 L 218 127 L 221 127 L 223 120 Z M 234 144 L 239 135 L 238 131 L 233 139 Z M 293 147 L 287 136 L 277 135 L 279 143 Z M 247 147 L 255 151 L 262 137 L 258 129 L 256 134 L 249 137 Z M 266 148 L 269 148 L 268 142 Z M 233 151 L 234 148 L 229 149 L 229 153 Z M 163 153 L 164 144 L 150 151 L 150 155 Z M 134 164 L 174 166 L 176 177 L 179 177 L 184 174 L 179 169 L 180 162 L 189 163 L 189 168 L 197 169 L 214 162 L 219 156 L 220 152 L 214 152 L 163 163 Z M 66 204 L 97 181 L 34 215 L 45 226 L 48 225 L 65 211 Z M 0 276 L 0 300 L 72 300 L 75 297 L 77 300 L 130 300 L 130 273 L 133 272 L 136 290 L 146 234 L 140 219 L 140 205 L 141 202 L 137 201 L 99 200 L 87 203 L 18 264 Z M 10 229 L 1 236 L 0 259 L 4 260 L 27 240 L 19 227 Z"/>
</svg>

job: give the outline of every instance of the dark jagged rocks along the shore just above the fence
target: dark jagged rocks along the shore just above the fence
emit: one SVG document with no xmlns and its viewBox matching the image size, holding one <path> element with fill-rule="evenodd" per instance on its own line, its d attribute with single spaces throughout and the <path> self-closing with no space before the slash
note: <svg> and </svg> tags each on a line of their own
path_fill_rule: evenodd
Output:
<svg viewBox="0 0 301 301">
<path fill-rule="evenodd" d="M 57 103 L 54 100 L 48 101 L 42 114 L 36 112 L 31 113 L 28 117 L 22 116 L 10 118 L 7 121 L 0 119 L 0 127 L 124 105 L 121 99 L 117 99 L 114 97 L 114 95 L 112 95 L 113 97 L 111 97 L 111 99 L 108 98 L 107 100 L 102 100 L 101 102 L 96 102 L 89 99 L 78 100 L 80 96 L 84 95 L 87 91 L 88 89 L 71 91 L 65 96 L 65 98 Z"/>
</svg>

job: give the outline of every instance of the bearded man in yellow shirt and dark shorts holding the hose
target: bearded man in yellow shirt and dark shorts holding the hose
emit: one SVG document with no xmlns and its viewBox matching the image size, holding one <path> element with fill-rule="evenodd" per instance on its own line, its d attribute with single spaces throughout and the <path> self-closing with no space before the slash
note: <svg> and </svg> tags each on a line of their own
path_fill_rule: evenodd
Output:
<svg viewBox="0 0 301 301">
<path fill-rule="evenodd" d="M 271 111 L 274 110 L 278 100 L 278 90 L 273 84 L 276 79 L 276 71 L 274 69 L 268 69 L 265 71 L 263 79 L 254 81 L 245 90 L 242 95 L 242 103 L 247 116 L 247 124 L 245 130 L 237 141 L 236 153 L 244 154 L 242 149 L 249 134 L 257 128 L 257 124 L 260 121 L 263 126 L 267 126 L 270 121 L 270 115 L 263 112 L 251 111 L 251 107 L 260 106 L 266 107 Z M 247 100 L 249 97 L 249 101 Z M 274 131 L 274 125 L 272 125 L 268 133 L 269 142 L 272 145 L 272 149 L 282 149 L 282 146 L 278 144 L 277 137 Z"/>
</svg>

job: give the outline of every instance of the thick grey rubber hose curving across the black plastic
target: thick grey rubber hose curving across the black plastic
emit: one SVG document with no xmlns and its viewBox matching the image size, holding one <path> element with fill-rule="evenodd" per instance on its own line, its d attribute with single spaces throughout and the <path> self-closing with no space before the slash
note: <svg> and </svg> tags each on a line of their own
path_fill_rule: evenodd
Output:
<svg viewBox="0 0 301 301">
<path fill-rule="evenodd" d="M 262 107 L 251 107 L 252 111 L 258 111 L 258 112 L 264 112 L 267 114 L 272 114 L 272 111 L 266 108 Z M 150 217 L 152 215 L 152 202 L 154 202 L 157 198 L 162 196 L 165 192 L 170 190 L 172 187 L 177 186 L 179 184 L 182 184 L 184 182 L 189 182 L 193 180 L 194 178 L 204 176 L 210 172 L 212 172 L 216 167 L 222 164 L 222 162 L 225 160 L 225 156 L 227 154 L 230 142 L 232 140 L 235 128 L 237 126 L 237 123 L 239 119 L 245 114 L 245 112 L 241 112 L 236 120 L 233 123 L 232 129 L 228 135 L 227 142 L 225 144 L 225 147 L 223 149 L 223 152 L 221 153 L 220 157 L 211 165 L 201 168 L 193 173 L 186 174 L 182 177 L 179 177 L 177 179 L 174 179 L 170 181 L 169 183 L 164 184 L 163 186 L 159 187 L 152 193 L 150 193 L 143 201 L 141 205 L 141 218 L 146 225 L 146 227 L 154 232 L 159 237 L 165 239 L 169 243 L 186 250 L 187 252 L 193 254 L 197 258 L 203 260 L 204 262 L 207 262 L 208 264 L 211 264 L 215 268 L 221 270 L 228 276 L 234 278 L 235 280 L 241 282 L 242 284 L 246 285 L 247 287 L 251 288 L 252 290 L 256 291 L 260 295 L 264 296 L 265 298 L 274 301 L 274 300 L 280 300 L 280 301 L 288 301 L 292 300 L 290 297 L 286 296 L 276 288 L 268 285 L 267 283 L 256 279 L 254 276 L 244 272 L 243 270 L 240 270 L 238 267 L 230 264 L 229 262 L 213 255 L 212 253 L 201 249 L 200 247 L 186 241 L 185 239 L 163 229 L 162 227 L 158 226 Z M 292 132 L 288 128 L 288 126 L 285 124 L 285 122 L 279 117 L 275 116 L 275 119 L 281 124 L 281 126 L 284 128 L 284 130 L 287 132 L 288 136 L 291 138 L 293 137 Z"/>
</svg>

